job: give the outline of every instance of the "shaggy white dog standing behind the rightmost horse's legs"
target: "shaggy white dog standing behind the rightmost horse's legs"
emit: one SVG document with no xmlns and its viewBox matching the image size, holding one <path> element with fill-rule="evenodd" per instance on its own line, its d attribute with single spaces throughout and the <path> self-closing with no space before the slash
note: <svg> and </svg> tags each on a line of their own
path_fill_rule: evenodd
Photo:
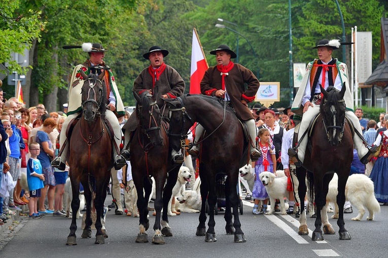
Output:
<svg viewBox="0 0 388 258">
<path fill-rule="evenodd" d="M 335 205 L 334 215 L 332 218 L 338 218 L 338 175 L 334 173 L 333 179 L 329 183 L 329 192 L 326 196 L 326 205 L 333 202 Z M 365 208 L 369 211 L 367 220 L 373 220 L 374 213 L 380 212 L 380 205 L 374 197 L 374 186 L 371 179 L 363 174 L 350 175 L 346 182 L 345 197 L 350 201 L 351 205 L 359 210 L 357 217 L 352 217 L 351 220 L 360 221 L 364 214 Z"/>
</svg>

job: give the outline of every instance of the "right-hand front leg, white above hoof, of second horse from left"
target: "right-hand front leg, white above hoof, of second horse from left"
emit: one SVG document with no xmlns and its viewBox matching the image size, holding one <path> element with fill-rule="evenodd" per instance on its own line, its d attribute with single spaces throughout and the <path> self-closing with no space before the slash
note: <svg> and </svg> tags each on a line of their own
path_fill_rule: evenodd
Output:
<svg viewBox="0 0 388 258">
<path fill-rule="evenodd" d="M 160 227 L 160 214 L 163 208 L 163 187 L 166 182 L 166 176 L 163 170 L 159 170 L 155 176 L 156 187 L 156 199 L 154 201 L 154 207 L 156 211 L 155 224 L 154 224 L 154 237 L 152 238 L 153 244 L 165 244 L 161 227 Z"/>
</svg>

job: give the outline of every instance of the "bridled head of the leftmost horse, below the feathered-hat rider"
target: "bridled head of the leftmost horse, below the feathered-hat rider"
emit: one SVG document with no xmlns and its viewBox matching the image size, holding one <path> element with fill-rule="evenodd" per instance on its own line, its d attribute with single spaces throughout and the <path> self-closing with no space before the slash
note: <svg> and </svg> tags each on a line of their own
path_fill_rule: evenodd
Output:
<svg viewBox="0 0 388 258">
<path fill-rule="evenodd" d="M 90 73 L 89 76 L 81 69 L 82 78 L 85 80 L 81 89 L 82 110 L 86 121 L 93 121 L 96 114 L 105 115 L 107 103 L 107 89 L 102 82 L 105 70 L 99 76 Z"/>
</svg>

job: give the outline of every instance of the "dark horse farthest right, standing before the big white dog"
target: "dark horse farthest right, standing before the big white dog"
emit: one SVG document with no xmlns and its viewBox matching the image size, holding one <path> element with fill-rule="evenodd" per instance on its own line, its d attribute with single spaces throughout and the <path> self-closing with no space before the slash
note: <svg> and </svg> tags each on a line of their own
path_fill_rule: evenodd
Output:
<svg viewBox="0 0 388 258">
<path fill-rule="evenodd" d="M 321 230 L 322 223 L 324 224 L 325 234 L 335 234 L 326 212 L 326 195 L 329 191 L 329 182 L 333 178 L 333 173 L 338 175 L 337 203 L 339 214 L 337 225 L 339 226 L 339 239 L 350 239 L 343 220 L 345 186 L 353 159 L 352 133 L 349 123 L 345 119 L 346 106 L 343 100 L 345 90 L 345 85 L 342 86 L 340 92 L 334 87 L 329 87 L 328 91 L 321 87 L 324 98 L 320 105 L 320 115 L 309 139 L 311 149 L 306 148 L 303 167 L 309 171 L 307 173 L 309 191 L 315 194 L 316 205 L 315 230 L 312 233 L 312 240 L 324 239 Z M 306 194 L 305 169 L 297 168 L 299 198 L 302 200 L 299 219 L 300 235 L 308 234 L 303 202 Z M 315 191 L 313 192 L 313 190 Z M 310 194 L 310 200 L 312 198 L 313 194 Z"/>
</svg>

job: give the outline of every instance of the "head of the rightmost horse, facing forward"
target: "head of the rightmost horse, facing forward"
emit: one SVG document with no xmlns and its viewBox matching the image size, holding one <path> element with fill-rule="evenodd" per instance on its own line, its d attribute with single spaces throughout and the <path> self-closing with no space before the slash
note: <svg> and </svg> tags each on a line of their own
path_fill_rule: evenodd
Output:
<svg viewBox="0 0 388 258">
<path fill-rule="evenodd" d="M 320 111 L 323 117 L 325 130 L 329 143 L 338 145 L 341 142 L 345 127 L 346 105 L 343 99 L 346 85 L 343 83 L 341 91 L 333 86 L 328 87 L 327 91 L 320 85 L 324 99 L 321 101 Z"/>
</svg>

